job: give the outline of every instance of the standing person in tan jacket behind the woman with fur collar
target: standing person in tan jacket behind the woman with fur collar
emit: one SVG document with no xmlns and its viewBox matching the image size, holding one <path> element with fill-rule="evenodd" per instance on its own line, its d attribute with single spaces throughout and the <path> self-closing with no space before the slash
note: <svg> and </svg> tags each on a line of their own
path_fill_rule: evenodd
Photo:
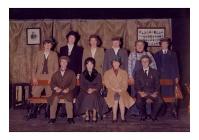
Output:
<svg viewBox="0 0 199 140">
<path fill-rule="evenodd" d="M 85 69 L 84 62 L 86 58 L 92 57 L 95 59 L 95 69 L 102 74 L 102 67 L 104 61 L 104 49 L 100 48 L 102 42 L 97 35 L 91 35 L 89 37 L 89 47 L 84 49 L 82 58 L 82 70 Z"/>
</svg>

